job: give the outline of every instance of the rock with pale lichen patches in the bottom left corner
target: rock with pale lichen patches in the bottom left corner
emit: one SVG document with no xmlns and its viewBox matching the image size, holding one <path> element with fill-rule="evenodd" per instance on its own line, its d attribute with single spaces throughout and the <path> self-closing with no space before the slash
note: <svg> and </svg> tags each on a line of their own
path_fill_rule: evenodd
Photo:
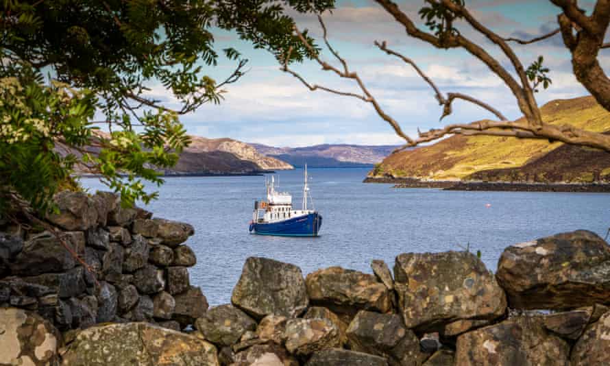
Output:
<svg viewBox="0 0 610 366">
<path fill-rule="evenodd" d="M 40 315 L 0 308 L 0 365 L 53 365 L 59 332 Z"/>
</svg>

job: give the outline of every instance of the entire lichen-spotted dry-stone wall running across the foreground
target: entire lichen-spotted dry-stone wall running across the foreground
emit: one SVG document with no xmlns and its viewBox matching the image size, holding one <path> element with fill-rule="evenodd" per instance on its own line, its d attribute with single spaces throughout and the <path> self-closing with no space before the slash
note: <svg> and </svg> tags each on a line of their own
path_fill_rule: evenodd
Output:
<svg viewBox="0 0 610 366">
<path fill-rule="evenodd" d="M 469 252 L 306 276 L 250 257 L 231 303 L 208 308 L 190 225 L 110 193 L 57 200 L 47 220 L 84 263 L 0 221 L 0 365 L 610 364 L 610 245 L 592 232 L 511 245 L 496 273 Z"/>
</svg>

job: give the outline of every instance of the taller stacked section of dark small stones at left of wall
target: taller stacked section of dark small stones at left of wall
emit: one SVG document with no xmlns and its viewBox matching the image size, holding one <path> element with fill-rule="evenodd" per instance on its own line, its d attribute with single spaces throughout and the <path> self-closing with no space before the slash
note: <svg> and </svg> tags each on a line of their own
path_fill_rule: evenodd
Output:
<svg viewBox="0 0 610 366">
<path fill-rule="evenodd" d="M 188 278 L 195 254 L 182 244 L 191 225 L 121 208 L 112 193 L 64 191 L 56 201 L 47 221 L 58 234 L 0 226 L 1 307 L 32 310 L 61 331 L 125 321 L 180 330 L 203 315 L 206 297 Z"/>
</svg>

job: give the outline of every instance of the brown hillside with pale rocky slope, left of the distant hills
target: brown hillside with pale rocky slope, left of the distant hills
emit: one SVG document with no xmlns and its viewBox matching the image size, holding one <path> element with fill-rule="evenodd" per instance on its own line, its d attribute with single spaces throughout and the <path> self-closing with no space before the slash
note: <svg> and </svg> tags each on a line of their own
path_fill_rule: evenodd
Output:
<svg viewBox="0 0 610 366">
<path fill-rule="evenodd" d="M 97 132 L 106 134 L 105 132 Z M 107 136 L 107 135 L 106 135 Z M 172 169 L 162 169 L 164 175 L 232 175 L 256 174 L 263 171 L 293 169 L 290 164 L 259 154 L 254 147 L 230 138 L 204 138 L 191 136 L 193 141 L 182 154 Z M 89 149 L 95 150 L 90 147 Z M 75 154 L 78 151 L 56 145 L 60 154 Z M 75 171 L 81 174 L 91 173 L 83 164 L 77 164 Z"/>
</svg>

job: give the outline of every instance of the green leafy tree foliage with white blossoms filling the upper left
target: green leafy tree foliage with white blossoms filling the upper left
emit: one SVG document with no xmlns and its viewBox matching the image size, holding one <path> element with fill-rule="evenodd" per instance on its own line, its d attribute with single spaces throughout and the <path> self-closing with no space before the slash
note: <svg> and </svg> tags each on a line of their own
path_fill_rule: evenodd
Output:
<svg viewBox="0 0 610 366">
<path fill-rule="evenodd" d="M 321 12 L 333 3 L 2 1 L 0 93 L 8 99 L 0 106 L 0 197 L 16 194 L 48 211 L 75 164 L 84 164 L 123 204 L 153 199 L 143 180 L 161 184 L 156 169 L 175 164 L 190 142 L 179 116 L 219 103 L 222 86 L 243 75 L 246 60 L 232 48 L 222 51 L 235 71 L 224 82 L 206 75 L 219 58 L 213 27 L 234 29 L 256 48 L 292 47 L 291 60 L 300 61 L 310 55 L 284 8 Z M 149 97 L 154 83 L 178 108 Z M 99 114 L 103 121 L 92 121 Z M 97 132 L 101 126 L 109 134 Z M 60 154 L 58 145 L 70 152 Z"/>
</svg>

